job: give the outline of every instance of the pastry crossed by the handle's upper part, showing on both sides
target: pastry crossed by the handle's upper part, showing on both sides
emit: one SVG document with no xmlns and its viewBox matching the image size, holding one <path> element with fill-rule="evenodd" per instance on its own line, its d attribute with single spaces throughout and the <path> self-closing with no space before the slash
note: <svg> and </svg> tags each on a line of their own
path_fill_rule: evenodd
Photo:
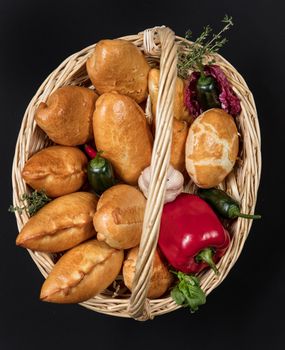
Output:
<svg viewBox="0 0 285 350">
<path fill-rule="evenodd" d="M 152 68 L 148 75 L 148 90 L 151 98 L 152 114 L 154 119 L 156 115 L 159 74 L 160 74 L 159 69 Z M 174 94 L 173 116 L 177 120 L 184 120 L 188 123 L 192 123 L 193 116 L 189 113 L 187 107 L 184 104 L 184 89 L 185 89 L 185 82 L 179 77 L 177 77 L 175 94 Z"/>
</svg>

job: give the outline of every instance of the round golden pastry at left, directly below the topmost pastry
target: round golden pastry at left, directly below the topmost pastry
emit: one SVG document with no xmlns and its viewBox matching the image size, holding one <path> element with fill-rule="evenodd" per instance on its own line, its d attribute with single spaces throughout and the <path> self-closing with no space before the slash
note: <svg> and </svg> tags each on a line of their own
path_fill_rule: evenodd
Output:
<svg viewBox="0 0 285 350">
<path fill-rule="evenodd" d="M 64 146 L 82 145 L 92 139 L 92 115 L 97 95 L 79 86 L 57 89 L 41 103 L 35 120 L 48 137 Z"/>
</svg>

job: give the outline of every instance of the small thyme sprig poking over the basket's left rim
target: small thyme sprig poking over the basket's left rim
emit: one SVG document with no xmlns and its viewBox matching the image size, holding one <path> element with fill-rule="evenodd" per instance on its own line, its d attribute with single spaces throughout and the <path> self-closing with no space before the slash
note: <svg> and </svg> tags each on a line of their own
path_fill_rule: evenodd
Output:
<svg viewBox="0 0 285 350">
<path fill-rule="evenodd" d="M 20 215 L 23 213 L 24 210 L 27 210 L 29 216 L 33 216 L 44 205 L 49 203 L 51 201 L 51 198 L 49 198 L 46 195 L 44 190 L 40 190 L 40 191 L 35 190 L 32 193 L 24 193 L 20 201 L 23 203 L 23 206 L 13 207 L 12 205 L 10 205 L 8 210 L 12 213 L 17 211 Z"/>
</svg>

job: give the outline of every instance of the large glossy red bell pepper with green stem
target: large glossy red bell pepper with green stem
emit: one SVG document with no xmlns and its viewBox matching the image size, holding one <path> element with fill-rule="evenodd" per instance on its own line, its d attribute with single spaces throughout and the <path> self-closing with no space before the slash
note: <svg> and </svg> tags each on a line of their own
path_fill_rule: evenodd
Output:
<svg viewBox="0 0 285 350">
<path fill-rule="evenodd" d="M 193 194 L 180 194 L 164 205 L 158 245 L 168 262 L 178 271 L 196 274 L 225 254 L 229 233 L 211 207 Z"/>
</svg>

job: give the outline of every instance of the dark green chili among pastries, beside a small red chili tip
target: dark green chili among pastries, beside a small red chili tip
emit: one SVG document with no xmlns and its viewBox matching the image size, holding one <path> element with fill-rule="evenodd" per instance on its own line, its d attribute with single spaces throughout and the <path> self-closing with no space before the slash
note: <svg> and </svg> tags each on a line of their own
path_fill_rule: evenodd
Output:
<svg viewBox="0 0 285 350">
<path fill-rule="evenodd" d="M 91 187 L 98 195 L 115 185 L 112 164 L 106 158 L 101 157 L 100 152 L 89 161 L 87 176 Z"/>
</svg>

